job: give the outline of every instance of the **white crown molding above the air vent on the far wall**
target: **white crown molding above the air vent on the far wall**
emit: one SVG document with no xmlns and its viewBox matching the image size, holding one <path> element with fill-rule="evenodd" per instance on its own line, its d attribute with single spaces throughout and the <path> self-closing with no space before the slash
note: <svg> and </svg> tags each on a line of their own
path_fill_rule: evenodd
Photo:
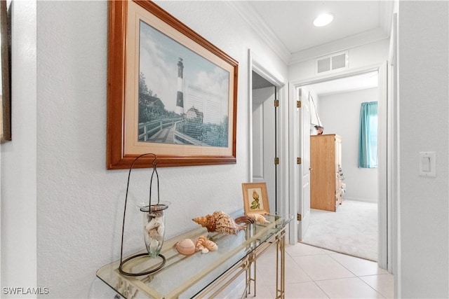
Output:
<svg viewBox="0 0 449 299">
<path fill-rule="evenodd" d="M 363 46 L 368 43 L 374 43 L 383 39 L 388 39 L 389 36 L 383 29 L 377 28 L 362 32 L 360 34 L 354 34 L 344 39 L 338 39 L 337 41 L 331 41 L 330 43 L 324 43 L 323 45 L 308 48 L 296 53 L 293 53 L 290 57 L 289 64 L 296 64 L 298 62 L 304 62 L 307 60 L 315 59 L 331 53 L 340 52 L 343 50 L 349 50 L 358 46 Z"/>
</svg>

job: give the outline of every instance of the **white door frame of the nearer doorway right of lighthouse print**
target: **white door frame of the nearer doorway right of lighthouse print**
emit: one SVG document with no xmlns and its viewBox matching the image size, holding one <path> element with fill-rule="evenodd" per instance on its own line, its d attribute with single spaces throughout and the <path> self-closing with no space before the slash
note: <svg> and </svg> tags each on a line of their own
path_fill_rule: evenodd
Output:
<svg viewBox="0 0 449 299">
<path fill-rule="evenodd" d="M 252 73 L 255 71 L 269 83 L 276 86 L 276 98 L 279 99 L 279 171 L 277 190 L 279 214 L 286 216 L 288 212 L 288 105 L 286 97 L 286 80 L 277 72 L 269 69 L 266 61 L 257 58 L 257 55 L 248 49 L 248 181 L 253 179 L 253 81 Z"/>
</svg>

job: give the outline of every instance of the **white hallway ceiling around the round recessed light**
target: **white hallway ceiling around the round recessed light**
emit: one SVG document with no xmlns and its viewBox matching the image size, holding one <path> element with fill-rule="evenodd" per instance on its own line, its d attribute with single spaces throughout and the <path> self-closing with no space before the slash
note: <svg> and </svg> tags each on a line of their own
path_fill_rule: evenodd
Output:
<svg viewBox="0 0 449 299">
<path fill-rule="evenodd" d="M 248 1 L 291 54 L 349 36 L 384 30 L 382 2 Z M 333 13 L 335 18 L 328 26 L 315 27 L 312 22 L 320 13 Z M 389 32 L 384 34 L 387 36 Z"/>
</svg>

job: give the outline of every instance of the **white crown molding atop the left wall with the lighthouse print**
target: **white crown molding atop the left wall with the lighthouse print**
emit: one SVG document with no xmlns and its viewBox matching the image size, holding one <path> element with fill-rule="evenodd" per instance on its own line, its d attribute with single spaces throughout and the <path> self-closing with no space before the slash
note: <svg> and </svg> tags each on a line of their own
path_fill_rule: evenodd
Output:
<svg viewBox="0 0 449 299">
<path fill-rule="evenodd" d="M 260 15 L 248 4 L 248 1 L 227 1 L 227 4 L 239 13 L 241 18 L 260 36 L 262 41 L 267 43 L 274 53 L 276 53 L 283 62 L 288 64 L 291 53 L 283 45 L 282 41 L 274 34 Z"/>
</svg>

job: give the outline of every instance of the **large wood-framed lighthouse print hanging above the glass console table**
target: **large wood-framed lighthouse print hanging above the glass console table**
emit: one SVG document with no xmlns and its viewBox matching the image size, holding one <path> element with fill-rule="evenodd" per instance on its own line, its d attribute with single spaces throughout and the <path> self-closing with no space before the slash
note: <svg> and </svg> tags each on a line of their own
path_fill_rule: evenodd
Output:
<svg viewBox="0 0 449 299">
<path fill-rule="evenodd" d="M 152 1 L 109 1 L 108 50 L 108 169 L 236 163 L 236 60 Z"/>
</svg>

